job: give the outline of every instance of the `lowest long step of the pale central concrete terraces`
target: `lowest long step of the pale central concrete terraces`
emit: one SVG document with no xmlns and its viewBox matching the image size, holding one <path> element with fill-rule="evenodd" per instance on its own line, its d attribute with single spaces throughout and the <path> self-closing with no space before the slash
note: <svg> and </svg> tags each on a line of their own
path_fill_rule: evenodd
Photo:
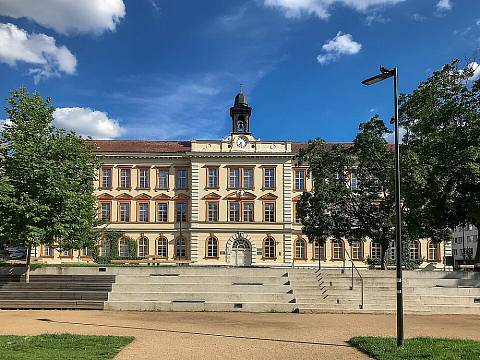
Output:
<svg viewBox="0 0 480 360">
<path fill-rule="evenodd" d="M 275 302 L 108 301 L 106 310 L 296 312 L 296 304 Z"/>
</svg>

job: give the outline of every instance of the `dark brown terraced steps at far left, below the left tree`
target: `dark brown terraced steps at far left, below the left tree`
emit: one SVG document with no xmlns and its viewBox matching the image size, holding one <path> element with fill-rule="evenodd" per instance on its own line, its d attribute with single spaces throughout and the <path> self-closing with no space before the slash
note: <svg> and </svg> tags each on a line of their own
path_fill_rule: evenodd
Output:
<svg viewBox="0 0 480 360">
<path fill-rule="evenodd" d="M 0 275 L 0 309 L 102 310 L 113 275 Z"/>
</svg>

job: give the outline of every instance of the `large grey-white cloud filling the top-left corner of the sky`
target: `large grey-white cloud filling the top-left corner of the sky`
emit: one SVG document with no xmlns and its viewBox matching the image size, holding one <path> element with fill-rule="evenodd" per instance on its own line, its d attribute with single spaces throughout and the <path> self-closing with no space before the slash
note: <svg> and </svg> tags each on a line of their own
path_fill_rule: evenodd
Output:
<svg viewBox="0 0 480 360">
<path fill-rule="evenodd" d="M 123 0 L 0 0 L 0 15 L 28 18 L 68 33 L 114 31 L 125 16 Z"/>
</svg>

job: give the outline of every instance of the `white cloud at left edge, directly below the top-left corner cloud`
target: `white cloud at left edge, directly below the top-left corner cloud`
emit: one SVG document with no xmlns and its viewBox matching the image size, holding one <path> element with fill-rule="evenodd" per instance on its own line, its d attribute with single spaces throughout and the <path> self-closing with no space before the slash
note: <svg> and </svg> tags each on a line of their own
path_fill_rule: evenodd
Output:
<svg viewBox="0 0 480 360">
<path fill-rule="evenodd" d="M 13 24 L 0 23 L 0 62 L 15 66 L 17 62 L 36 65 L 29 70 L 35 83 L 43 78 L 74 74 L 77 59 L 65 46 L 45 34 L 28 34 Z"/>
</svg>

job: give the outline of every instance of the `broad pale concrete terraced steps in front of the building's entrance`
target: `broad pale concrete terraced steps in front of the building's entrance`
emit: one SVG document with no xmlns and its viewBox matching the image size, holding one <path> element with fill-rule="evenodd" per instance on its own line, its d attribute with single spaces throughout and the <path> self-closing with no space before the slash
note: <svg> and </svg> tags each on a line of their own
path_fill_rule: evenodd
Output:
<svg viewBox="0 0 480 360">
<path fill-rule="evenodd" d="M 142 270 L 116 276 L 106 309 L 296 311 L 288 269 L 174 267 Z"/>
</svg>

